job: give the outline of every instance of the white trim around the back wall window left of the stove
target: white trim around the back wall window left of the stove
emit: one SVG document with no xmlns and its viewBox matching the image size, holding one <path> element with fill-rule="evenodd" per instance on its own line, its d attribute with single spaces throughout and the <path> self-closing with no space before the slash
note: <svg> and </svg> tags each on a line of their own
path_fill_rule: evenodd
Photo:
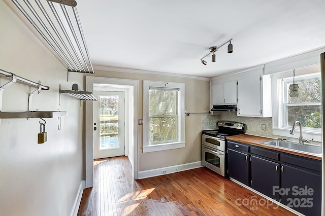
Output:
<svg viewBox="0 0 325 216">
<path fill-rule="evenodd" d="M 149 88 L 174 88 L 178 93 L 178 141 L 149 146 Z M 184 114 L 184 115 L 182 115 Z M 185 83 L 143 81 L 143 145 L 142 152 L 185 148 Z"/>
</svg>

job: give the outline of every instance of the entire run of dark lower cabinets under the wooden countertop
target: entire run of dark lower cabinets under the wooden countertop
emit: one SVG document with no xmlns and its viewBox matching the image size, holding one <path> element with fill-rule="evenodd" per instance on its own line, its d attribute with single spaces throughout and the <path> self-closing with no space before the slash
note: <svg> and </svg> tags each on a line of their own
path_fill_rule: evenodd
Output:
<svg viewBox="0 0 325 216">
<path fill-rule="evenodd" d="M 228 174 L 304 215 L 321 215 L 320 160 L 228 141 Z"/>
</svg>

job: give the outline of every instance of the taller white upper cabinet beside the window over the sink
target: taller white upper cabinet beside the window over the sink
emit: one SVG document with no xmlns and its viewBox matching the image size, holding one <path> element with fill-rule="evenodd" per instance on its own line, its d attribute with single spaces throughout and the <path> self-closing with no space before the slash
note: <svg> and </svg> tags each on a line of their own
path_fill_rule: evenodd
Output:
<svg viewBox="0 0 325 216">
<path fill-rule="evenodd" d="M 238 116 L 272 117 L 270 76 L 250 75 L 238 80 Z"/>
</svg>

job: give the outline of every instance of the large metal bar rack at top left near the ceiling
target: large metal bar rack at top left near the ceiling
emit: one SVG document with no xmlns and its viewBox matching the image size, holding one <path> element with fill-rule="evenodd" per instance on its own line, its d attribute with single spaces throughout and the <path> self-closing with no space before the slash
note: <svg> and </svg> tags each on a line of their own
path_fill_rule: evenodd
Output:
<svg viewBox="0 0 325 216">
<path fill-rule="evenodd" d="M 94 73 L 75 1 L 12 2 L 67 65 L 68 72 Z"/>
</svg>

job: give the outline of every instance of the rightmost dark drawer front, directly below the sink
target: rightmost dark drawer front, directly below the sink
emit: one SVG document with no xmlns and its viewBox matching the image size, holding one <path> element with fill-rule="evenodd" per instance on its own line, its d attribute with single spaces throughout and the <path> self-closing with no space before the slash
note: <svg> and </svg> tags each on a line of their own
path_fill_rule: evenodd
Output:
<svg viewBox="0 0 325 216">
<path fill-rule="evenodd" d="M 321 161 L 282 154 L 282 162 L 321 172 Z"/>
</svg>

